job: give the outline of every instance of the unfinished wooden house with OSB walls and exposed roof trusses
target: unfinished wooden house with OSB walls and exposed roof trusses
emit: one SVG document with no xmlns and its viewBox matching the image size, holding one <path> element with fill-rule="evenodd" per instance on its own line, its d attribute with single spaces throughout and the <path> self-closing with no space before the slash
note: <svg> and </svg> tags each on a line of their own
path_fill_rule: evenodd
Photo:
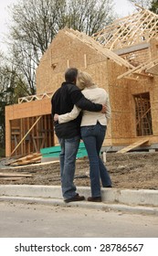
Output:
<svg viewBox="0 0 158 256">
<path fill-rule="evenodd" d="M 140 8 L 93 37 L 58 32 L 37 67 L 37 95 L 5 108 L 6 156 L 58 144 L 50 99 L 69 67 L 89 72 L 110 95 L 106 147 L 158 147 L 158 16 Z"/>
</svg>

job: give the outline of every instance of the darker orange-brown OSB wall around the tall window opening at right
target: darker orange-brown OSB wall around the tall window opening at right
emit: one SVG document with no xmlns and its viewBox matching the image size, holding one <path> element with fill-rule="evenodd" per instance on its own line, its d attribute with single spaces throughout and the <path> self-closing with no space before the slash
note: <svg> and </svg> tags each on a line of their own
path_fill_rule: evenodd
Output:
<svg viewBox="0 0 158 256">
<path fill-rule="evenodd" d="M 153 135 L 149 136 L 150 143 L 158 143 L 158 78 L 143 78 L 139 80 L 116 80 L 116 75 L 123 73 L 124 69 L 109 61 L 110 95 L 111 95 L 111 136 L 112 144 L 132 144 L 138 139 L 135 124 L 135 103 L 133 95 L 144 92 L 150 93 L 151 113 L 153 122 Z M 110 77 L 110 76 L 109 76 Z"/>
</svg>

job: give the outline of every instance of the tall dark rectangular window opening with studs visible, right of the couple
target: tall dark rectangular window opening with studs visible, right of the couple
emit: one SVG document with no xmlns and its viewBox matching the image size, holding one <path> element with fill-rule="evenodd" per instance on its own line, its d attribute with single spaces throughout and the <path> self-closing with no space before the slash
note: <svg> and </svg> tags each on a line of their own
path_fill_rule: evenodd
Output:
<svg viewBox="0 0 158 256">
<path fill-rule="evenodd" d="M 149 92 L 134 95 L 136 134 L 137 136 L 152 135 L 152 114 Z"/>
</svg>

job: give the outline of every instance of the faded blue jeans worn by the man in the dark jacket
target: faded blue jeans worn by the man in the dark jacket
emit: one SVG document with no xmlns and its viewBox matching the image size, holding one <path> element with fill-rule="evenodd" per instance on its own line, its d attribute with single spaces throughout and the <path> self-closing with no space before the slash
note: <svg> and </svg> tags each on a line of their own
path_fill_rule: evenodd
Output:
<svg viewBox="0 0 158 256">
<path fill-rule="evenodd" d="M 61 146 L 60 159 L 60 176 L 62 195 L 64 199 L 76 196 L 76 187 L 73 183 L 75 176 L 76 155 L 79 149 L 80 136 L 70 139 L 58 138 Z"/>
</svg>

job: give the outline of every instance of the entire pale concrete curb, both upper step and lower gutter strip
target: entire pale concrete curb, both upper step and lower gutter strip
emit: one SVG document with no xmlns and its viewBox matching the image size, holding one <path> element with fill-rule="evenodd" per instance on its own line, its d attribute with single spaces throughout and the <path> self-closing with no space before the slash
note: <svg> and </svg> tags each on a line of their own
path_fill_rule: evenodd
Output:
<svg viewBox="0 0 158 256">
<path fill-rule="evenodd" d="M 90 197 L 90 187 L 78 187 L 80 195 Z M 37 185 L 1 185 L 0 200 L 16 200 L 42 204 L 73 206 L 82 208 L 100 208 L 103 210 L 130 211 L 158 215 L 158 191 L 148 189 L 102 188 L 102 202 L 87 201 L 66 204 L 61 195 L 60 186 Z"/>
</svg>

